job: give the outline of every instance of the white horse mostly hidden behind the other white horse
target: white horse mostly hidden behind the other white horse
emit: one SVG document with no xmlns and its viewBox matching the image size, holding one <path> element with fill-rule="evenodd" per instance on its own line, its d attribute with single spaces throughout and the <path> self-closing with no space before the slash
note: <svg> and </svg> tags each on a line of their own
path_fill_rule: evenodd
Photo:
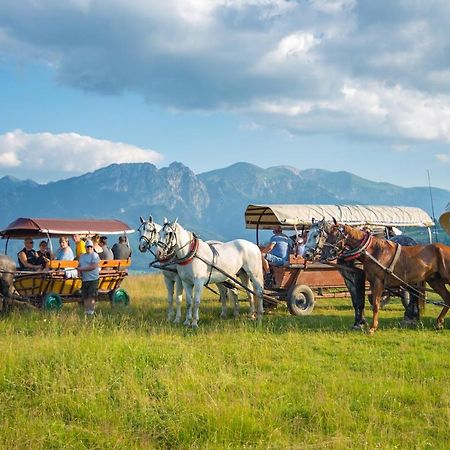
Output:
<svg viewBox="0 0 450 450">
<path fill-rule="evenodd" d="M 174 323 L 179 323 L 181 320 L 181 303 L 183 300 L 183 283 L 177 272 L 176 264 L 170 264 L 170 257 L 158 260 L 157 254 L 153 252 L 152 247 L 156 247 L 160 241 L 161 225 L 158 225 L 153 221 L 152 216 L 148 220 L 144 220 L 140 217 L 141 225 L 139 227 L 139 250 L 141 252 L 150 251 L 155 256 L 155 261 L 160 263 L 161 270 L 164 276 L 164 284 L 167 289 L 167 320 Z M 221 244 L 217 241 L 208 241 L 211 245 Z M 156 248 L 155 248 L 156 250 Z M 235 289 L 227 289 L 224 285 L 218 284 L 220 301 L 222 304 L 222 312 L 220 317 L 225 318 L 227 316 L 227 298 L 231 297 L 234 304 L 234 316 L 239 315 L 239 301 L 237 299 L 237 292 Z M 174 311 L 174 293 L 176 293 L 176 313 Z M 234 295 L 236 294 L 236 295 Z M 175 319 L 174 319 L 175 316 Z"/>
</svg>

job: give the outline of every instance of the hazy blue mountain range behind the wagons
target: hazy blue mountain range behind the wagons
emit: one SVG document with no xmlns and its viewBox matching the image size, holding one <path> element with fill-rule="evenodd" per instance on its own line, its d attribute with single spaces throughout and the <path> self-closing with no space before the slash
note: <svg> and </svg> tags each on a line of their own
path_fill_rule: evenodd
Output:
<svg viewBox="0 0 450 450">
<path fill-rule="evenodd" d="M 47 184 L 0 179 L 0 226 L 17 217 L 118 218 L 132 227 L 139 216 L 178 217 L 205 239 L 252 239 L 244 228 L 249 203 L 328 203 L 417 206 L 430 211 L 428 187 L 404 188 L 349 172 L 263 169 L 248 163 L 196 175 L 182 163 L 156 168 L 150 163 L 108 167 Z M 450 201 L 450 191 L 433 188 L 436 214 Z M 135 239 L 135 242 L 137 238 Z M 137 255 L 136 267 L 147 264 Z"/>
</svg>

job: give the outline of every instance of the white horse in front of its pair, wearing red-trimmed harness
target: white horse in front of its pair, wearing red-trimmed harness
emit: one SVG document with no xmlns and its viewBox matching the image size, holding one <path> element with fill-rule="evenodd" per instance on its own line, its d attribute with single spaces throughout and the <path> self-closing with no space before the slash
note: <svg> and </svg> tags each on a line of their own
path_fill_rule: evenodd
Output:
<svg viewBox="0 0 450 450">
<path fill-rule="evenodd" d="M 197 327 L 200 299 L 205 285 L 232 282 L 230 276 L 239 276 L 250 296 L 250 315 L 262 319 L 263 272 L 261 252 L 252 242 L 244 239 L 210 245 L 185 230 L 176 221 L 166 222 L 160 232 L 158 257 L 169 258 L 176 263 L 178 275 L 186 292 L 186 320 L 184 325 Z M 237 293 L 233 292 L 235 304 Z M 255 308 L 255 297 L 257 306 Z"/>
</svg>

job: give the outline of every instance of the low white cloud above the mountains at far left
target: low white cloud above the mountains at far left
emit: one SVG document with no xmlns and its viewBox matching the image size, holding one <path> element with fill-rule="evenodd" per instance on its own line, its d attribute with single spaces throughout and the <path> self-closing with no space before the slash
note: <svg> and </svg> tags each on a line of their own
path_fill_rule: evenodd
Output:
<svg viewBox="0 0 450 450">
<path fill-rule="evenodd" d="M 38 181 L 67 178 L 113 163 L 162 161 L 160 153 L 122 142 L 111 142 L 77 133 L 25 133 L 0 135 L 0 169 L 14 174 L 41 174 Z"/>
</svg>

